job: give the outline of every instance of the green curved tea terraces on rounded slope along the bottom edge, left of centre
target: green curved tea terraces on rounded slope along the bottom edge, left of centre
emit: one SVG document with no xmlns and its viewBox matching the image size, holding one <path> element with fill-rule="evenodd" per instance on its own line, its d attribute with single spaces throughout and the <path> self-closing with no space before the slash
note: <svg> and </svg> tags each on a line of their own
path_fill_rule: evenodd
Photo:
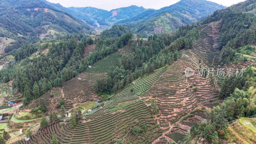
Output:
<svg viewBox="0 0 256 144">
<path fill-rule="evenodd" d="M 136 97 L 134 98 L 136 99 Z M 69 128 L 69 124 L 60 126 L 57 123 L 36 132 L 29 141 L 18 140 L 13 144 L 50 143 L 52 132 L 57 134 L 57 139 L 61 143 L 110 143 L 114 138 L 125 139 L 126 143 L 152 143 L 162 135 L 162 131 L 151 117 L 150 109 L 138 98 L 132 101 L 131 105 L 123 108 L 125 110 L 106 113 L 110 105 L 113 108 L 120 104 L 118 101 L 116 103 L 112 101 L 103 107 L 105 110 L 101 109 L 105 114 L 96 116 L 92 120 L 79 122 L 73 129 Z M 119 100 L 123 101 L 124 98 Z M 133 126 L 141 127 L 143 125 L 147 127 L 143 133 L 136 135 L 132 133 Z"/>
</svg>

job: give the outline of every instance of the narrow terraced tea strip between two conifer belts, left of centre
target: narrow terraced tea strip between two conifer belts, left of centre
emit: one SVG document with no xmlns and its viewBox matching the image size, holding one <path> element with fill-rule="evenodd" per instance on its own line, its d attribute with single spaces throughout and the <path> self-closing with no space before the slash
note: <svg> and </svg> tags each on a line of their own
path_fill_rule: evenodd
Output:
<svg viewBox="0 0 256 144">
<path fill-rule="evenodd" d="M 88 99 L 96 100 L 97 97 L 92 97 L 92 84 L 97 78 L 102 78 L 110 71 L 114 70 L 118 65 L 118 61 L 122 55 L 129 54 L 130 47 L 124 46 L 118 52 L 115 52 L 108 56 L 108 58 L 100 60 L 92 65 L 91 68 L 85 70 L 82 74 L 66 82 L 63 85 L 63 93 L 65 99 L 72 100 L 77 98 L 80 102 L 84 102 Z M 78 77 L 81 80 L 78 80 Z M 79 96 L 79 97 L 78 97 Z"/>
</svg>

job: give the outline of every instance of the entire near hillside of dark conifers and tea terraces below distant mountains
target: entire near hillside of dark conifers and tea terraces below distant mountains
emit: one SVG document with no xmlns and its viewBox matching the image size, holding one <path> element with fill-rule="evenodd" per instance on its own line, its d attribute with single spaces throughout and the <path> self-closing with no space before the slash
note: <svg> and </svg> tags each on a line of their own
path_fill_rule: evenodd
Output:
<svg viewBox="0 0 256 144">
<path fill-rule="evenodd" d="M 147 39 L 116 25 L 100 37 L 79 33 L 21 47 L 0 70 L 0 111 L 9 115 L 3 128 L 12 130 L 0 140 L 256 143 L 255 4 Z M 22 98 L 21 107 L 6 106 Z M 20 128 L 27 130 L 16 134 Z"/>
</svg>

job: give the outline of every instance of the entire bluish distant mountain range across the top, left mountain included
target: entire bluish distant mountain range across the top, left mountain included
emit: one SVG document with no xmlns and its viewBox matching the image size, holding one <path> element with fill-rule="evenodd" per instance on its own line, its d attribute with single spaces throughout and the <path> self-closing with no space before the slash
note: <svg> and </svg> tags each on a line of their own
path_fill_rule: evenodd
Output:
<svg viewBox="0 0 256 144">
<path fill-rule="evenodd" d="M 147 37 L 172 32 L 224 6 L 205 0 L 181 0 L 159 10 L 131 5 L 111 11 L 93 7 L 63 7 L 46 0 L 0 0 L 0 36 L 36 37 L 52 32 L 99 33 L 113 25 L 127 26 Z"/>
</svg>

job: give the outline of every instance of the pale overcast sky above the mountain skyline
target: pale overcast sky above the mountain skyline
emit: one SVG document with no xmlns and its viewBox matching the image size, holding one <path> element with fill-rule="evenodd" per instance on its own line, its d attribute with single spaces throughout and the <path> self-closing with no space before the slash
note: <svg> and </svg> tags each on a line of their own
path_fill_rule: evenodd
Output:
<svg viewBox="0 0 256 144">
<path fill-rule="evenodd" d="M 60 3 L 64 7 L 96 7 L 104 10 L 112 10 L 130 5 L 143 6 L 144 8 L 160 9 L 175 4 L 179 0 L 49 0 L 52 3 Z M 210 0 L 212 2 L 230 6 L 244 0 Z"/>
</svg>

